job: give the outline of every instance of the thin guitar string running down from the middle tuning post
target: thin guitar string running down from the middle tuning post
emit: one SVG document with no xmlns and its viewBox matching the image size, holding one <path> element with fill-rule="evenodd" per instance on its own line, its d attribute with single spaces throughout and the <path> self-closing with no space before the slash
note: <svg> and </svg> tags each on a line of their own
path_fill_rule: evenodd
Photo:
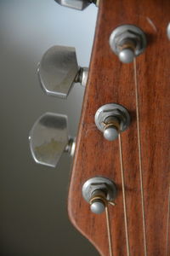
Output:
<svg viewBox="0 0 170 256">
<path fill-rule="evenodd" d="M 127 256 L 130 256 L 128 229 L 127 229 L 127 204 L 126 204 L 126 195 L 125 195 L 124 167 L 123 167 L 123 160 L 122 160 L 122 137 L 121 137 L 121 134 L 119 134 L 118 139 L 119 139 L 119 153 L 120 153 L 120 163 L 121 163 L 121 173 L 122 173 L 122 200 L 123 200 L 123 209 L 124 209 L 125 234 L 126 234 L 126 241 L 127 241 Z"/>
</svg>

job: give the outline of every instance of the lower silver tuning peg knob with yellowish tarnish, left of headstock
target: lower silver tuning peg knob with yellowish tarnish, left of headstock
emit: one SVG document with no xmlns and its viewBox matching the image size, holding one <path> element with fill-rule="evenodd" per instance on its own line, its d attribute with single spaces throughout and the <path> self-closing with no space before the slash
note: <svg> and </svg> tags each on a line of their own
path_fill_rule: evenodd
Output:
<svg viewBox="0 0 170 256">
<path fill-rule="evenodd" d="M 31 128 L 30 148 L 33 159 L 44 166 L 57 166 L 63 152 L 71 156 L 75 140 L 68 137 L 67 116 L 59 113 L 44 113 Z"/>
</svg>

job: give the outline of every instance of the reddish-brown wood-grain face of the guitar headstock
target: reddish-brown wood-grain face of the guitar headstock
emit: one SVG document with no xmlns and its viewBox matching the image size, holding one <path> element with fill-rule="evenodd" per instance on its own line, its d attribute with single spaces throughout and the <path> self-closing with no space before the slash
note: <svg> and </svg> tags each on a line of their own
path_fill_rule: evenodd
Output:
<svg viewBox="0 0 170 256">
<path fill-rule="evenodd" d="M 95 176 L 109 177 L 116 183 L 116 207 L 109 208 L 113 252 L 114 256 L 127 255 L 118 140 L 107 142 L 94 124 L 97 109 L 109 102 L 122 104 L 132 117 L 130 128 L 122 133 L 127 227 L 130 255 L 144 255 L 133 64 L 118 61 L 108 43 L 112 30 L 122 24 L 139 26 L 148 38 L 147 49 L 137 58 L 147 255 L 170 255 L 170 241 L 166 251 L 170 185 L 169 21 L 169 0 L 100 1 L 68 210 L 71 222 L 104 256 L 109 255 L 105 213 L 90 212 L 82 198 L 82 184 Z"/>
</svg>

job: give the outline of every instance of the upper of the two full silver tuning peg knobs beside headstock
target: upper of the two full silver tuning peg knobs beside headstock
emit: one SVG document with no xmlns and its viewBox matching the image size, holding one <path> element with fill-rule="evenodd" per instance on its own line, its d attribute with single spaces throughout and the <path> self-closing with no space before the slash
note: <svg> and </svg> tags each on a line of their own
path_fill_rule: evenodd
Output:
<svg viewBox="0 0 170 256">
<path fill-rule="evenodd" d="M 52 96 L 65 98 L 74 83 L 86 85 L 88 67 L 78 67 L 76 49 L 53 46 L 42 56 L 37 73 L 42 89 Z"/>
</svg>

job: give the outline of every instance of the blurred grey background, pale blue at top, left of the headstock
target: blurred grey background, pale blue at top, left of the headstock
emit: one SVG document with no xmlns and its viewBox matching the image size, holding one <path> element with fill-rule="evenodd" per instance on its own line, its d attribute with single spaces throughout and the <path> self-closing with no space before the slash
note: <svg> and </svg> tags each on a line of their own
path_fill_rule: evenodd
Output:
<svg viewBox="0 0 170 256">
<path fill-rule="evenodd" d="M 45 112 L 65 113 L 76 136 L 83 88 L 67 100 L 46 96 L 37 62 L 52 45 L 75 46 L 79 65 L 88 66 L 98 9 L 83 12 L 54 0 L 0 0 L 1 169 L 0 255 L 99 255 L 67 218 L 71 159 L 39 166 L 31 159 L 28 134 Z"/>
</svg>

